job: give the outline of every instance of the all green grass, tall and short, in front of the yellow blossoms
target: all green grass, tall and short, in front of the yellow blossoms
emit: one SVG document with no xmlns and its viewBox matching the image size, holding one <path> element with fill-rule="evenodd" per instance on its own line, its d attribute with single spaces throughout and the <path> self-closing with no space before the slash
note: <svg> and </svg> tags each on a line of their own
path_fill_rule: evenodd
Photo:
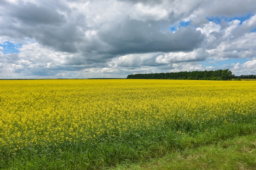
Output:
<svg viewBox="0 0 256 170">
<path fill-rule="evenodd" d="M 50 147 L 49 147 L 50 148 Z M 85 169 L 255 169 L 256 121 L 227 124 L 185 135 L 162 129 L 108 137 L 94 143 L 63 146 L 61 150 L 23 150 L 0 157 L 6 170 Z M 149 163 L 151 162 L 151 163 Z"/>
</svg>

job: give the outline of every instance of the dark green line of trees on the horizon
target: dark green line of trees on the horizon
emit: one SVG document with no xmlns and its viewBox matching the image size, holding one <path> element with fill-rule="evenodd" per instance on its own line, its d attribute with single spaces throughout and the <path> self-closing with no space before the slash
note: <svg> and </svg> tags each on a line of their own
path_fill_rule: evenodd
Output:
<svg viewBox="0 0 256 170">
<path fill-rule="evenodd" d="M 229 69 L 216 71 L 181 71 L 176 73 L 151 73 L 128 75 L 127 79 L 202 79 L 202 80 L 231 80 L 254 79 L 255 75 L 232 75 Z"/>
</svg>

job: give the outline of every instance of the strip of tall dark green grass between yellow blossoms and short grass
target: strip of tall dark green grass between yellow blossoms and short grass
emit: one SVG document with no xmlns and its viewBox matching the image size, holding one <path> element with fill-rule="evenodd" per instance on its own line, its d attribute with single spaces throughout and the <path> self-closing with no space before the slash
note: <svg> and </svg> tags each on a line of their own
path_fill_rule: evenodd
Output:
<svg viewBox="0 0 256 170">
<path fill-rule="evenodd" d="M 166 154 L 186 154 L 190 149 L 218 145 L 220 141 L 232 137 L 254 134 L 255 120 L 254 118 L 247 123 L 213 125 L 203 129 L 192 128 L 187 132 L 180 131 L 181 128 L 172 130 L 170 127 L 159 127 L 159 129 L 148 131 L 146 134 L 138 131 L 127 133 L 125 137 L 109 136 L 104 140 L 99 137 L 95 141 L 81 142 L 62 148 L 52 147 L 50 150 L 36 152 L 22 150 L 15 157 L 1 157 L 0 169 L 93 170 L 115 167 L 119 164 L 130 165 L 159 159 Z M 226 146 L 225 143 L 223 145 Z M 209 149 L 206 149 L 205 152 L 212 154 Z M 187 153 L 186 157 L 193 154 L 193 152 Z M 214 166 L 215 160 L 213 158 L 211 161 L 208 159 L 205 161 L 210 166 Z M 229 161 L 235 163 L 237 159 Z M 254 161 L 252 158 L 247 160 L 246 162 L 249 163 L 247 166 L 252 166 Z M 173 165 L 169 164 L 169 166 Z M 218 169 L 218 166 L 215 168 Z"/>
</svg>

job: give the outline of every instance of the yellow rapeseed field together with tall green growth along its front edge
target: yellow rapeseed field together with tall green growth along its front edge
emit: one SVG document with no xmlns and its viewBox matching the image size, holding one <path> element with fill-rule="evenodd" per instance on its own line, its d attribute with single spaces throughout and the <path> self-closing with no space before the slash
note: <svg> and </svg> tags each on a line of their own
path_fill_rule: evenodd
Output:
<svg viewBox="0 0 256 170">
<path fill-rule="evenodd" d="M 144 161 L 179 148 L 180 136 L 256 117 L 256 81 L 53 79 L 0 85 L 2 168 L 20 166 L 19 160 L 29 167 L 36 158 L 42 169 L 55 159 L 56 166 L 76 169 Z"/>
</svg>

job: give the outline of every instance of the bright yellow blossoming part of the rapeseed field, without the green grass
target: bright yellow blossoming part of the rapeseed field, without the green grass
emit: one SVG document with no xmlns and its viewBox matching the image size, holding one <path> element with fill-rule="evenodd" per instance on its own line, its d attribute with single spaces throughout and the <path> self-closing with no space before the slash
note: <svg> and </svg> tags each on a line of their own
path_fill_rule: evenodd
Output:
<svg viewBox="0 0 256 170">
<path fill-rule="evenodd" d="M 49 79 L 0 81 L 0 154 L 61 150 L 132 133 L 247 121 L 255 81 Z"/>
</svg>

